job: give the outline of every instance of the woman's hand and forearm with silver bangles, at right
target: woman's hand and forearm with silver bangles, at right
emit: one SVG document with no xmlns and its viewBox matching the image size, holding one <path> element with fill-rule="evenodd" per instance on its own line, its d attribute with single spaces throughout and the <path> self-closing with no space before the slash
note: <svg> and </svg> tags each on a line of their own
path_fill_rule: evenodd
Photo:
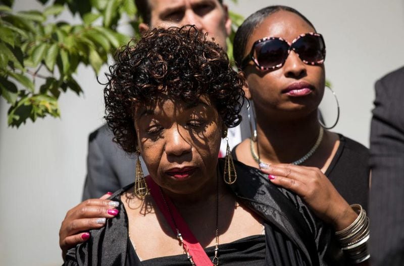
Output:
<svg viewBox="0 0 404 266">
<path fill-rule="evenodd" d="M 349 206 L 338 193 L 330 180 L 315 167 L 296 166 L 291 164 L 273 164 L 263 170 L 268 173 L 272 183 L 289 189 L 299 195 L 312 209 L 314 214 L 334 227 L 341 248 L 346 249 L 349 260 L 368 256 L 367 240 L 369 239 L 369 223 L 366 212 L 357 206 Z M 356 209 L 356 211 L 354 210 Z M 352 247 L 357 246 L 360 256 L 353 256 Z M 362 262 L 360 265 L 367 265 Z"/>
</svg>

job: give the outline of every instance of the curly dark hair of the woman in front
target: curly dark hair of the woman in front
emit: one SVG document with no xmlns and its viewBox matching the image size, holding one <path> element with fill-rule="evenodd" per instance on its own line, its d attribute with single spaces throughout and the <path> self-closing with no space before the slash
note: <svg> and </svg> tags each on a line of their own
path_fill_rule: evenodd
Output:
<svg viewBox="0 0 404 266">
<path fill-rule="evenodd" d="M 114 141 L 136 152 L 134 109 L 161 96 L 197 104 L 207 95 L 224 124 L 240 123 L 245 80 L 230 66 L 226 52 L 194 26 L 153 29 L 124 46 L 106 74 L 104 99 Z"/>
</svg>

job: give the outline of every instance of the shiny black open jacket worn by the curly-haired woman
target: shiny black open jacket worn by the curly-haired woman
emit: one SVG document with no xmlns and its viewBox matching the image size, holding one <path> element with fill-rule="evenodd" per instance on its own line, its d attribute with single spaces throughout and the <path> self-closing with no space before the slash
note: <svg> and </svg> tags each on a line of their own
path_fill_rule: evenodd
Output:
<svg viewBox="0 0 404 266">
<path fill-rule="evenodd" d="M 234 166 L 237 181 L 229 185 L 230 190 L 237 201 L 254 211 L 264 223 L 265 257 L 261 263 L 283 266 L 346 265 L 342 250 L 335 245 L 333 230 L 321 222 L 299 196 L 275 186 L 268 180 L 268 176 L 257 168 L 237 161 L 234 161 Z M 218 170 L 223 173 L 224 159 L 219 159 Z M 114 218 L 107 219 L 104 227 L 90 230 L 90 239 L 70 249 L 64 265 L 125 265 L 130 252 L 129 222 L 121 202 L 121 194 L 132 186 L 133 184 L 128 185 L 111 195 L 110 200 L 121 203 L 117 207 L 119 213 Z M 229 243 L 226 259 L 242 259 L 243 254 L 247 255 L 246 250 L 259 247 L 254 243 Z M 234 244 L 239 250 L 233 249 Z M 262 259 L 261 252 L 262 249 L 257 248 L 257 252 L 249 254 L 248 259 Z M 157 259 L 150 262 L 158 264 Z M 234 265 L 233 262 L 230 264 Z M 144 264 L 135 260 L 133 265 Z M 163 262 L 161 265 L 167 264 Z"/>
</svg>

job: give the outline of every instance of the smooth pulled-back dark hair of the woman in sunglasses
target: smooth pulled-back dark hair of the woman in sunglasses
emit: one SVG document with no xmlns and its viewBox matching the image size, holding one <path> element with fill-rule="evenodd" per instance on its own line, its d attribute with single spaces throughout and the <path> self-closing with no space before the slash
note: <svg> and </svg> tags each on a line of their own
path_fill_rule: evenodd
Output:
<svg viewBox="0 0 404 266">
<path fill-rule="evenodd" d="M 244 57 L 245 48 L 247 46 L 247 42 L 252 32 L 270 15 L 278 12 L 278 11 L 288 11 L 296 14 L 304 21 L 306 21 L 315 31 L 316 28 L 313 24 L 300 12 L 295 10 L 294 8 L 286 7 L 286 6 L 270 6 L 259 11 L 252 13 L 248 16 L 246 20 L 238 27 L 236 35 L 234 36 L 233 41 L 233 57 L 237 64 L 240 67 L 241 60 Z"/>
</svg>

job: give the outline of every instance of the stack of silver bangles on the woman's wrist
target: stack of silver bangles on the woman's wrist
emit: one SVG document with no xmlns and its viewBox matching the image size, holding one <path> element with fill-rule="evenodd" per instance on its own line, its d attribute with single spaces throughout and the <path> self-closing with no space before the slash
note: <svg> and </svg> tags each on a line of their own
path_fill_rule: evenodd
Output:
<svg viewBox="0 0 404 266">
<path fill-rule="evenodd" d="M 335 232 L 335 235 L 350 262 L 360 263 L 370 257 L 367 245 L 369 218 L 361 205 L 353 204 L 350 207 L 358 214 L 358 218 L 347 228 Z"/>
</svg>

